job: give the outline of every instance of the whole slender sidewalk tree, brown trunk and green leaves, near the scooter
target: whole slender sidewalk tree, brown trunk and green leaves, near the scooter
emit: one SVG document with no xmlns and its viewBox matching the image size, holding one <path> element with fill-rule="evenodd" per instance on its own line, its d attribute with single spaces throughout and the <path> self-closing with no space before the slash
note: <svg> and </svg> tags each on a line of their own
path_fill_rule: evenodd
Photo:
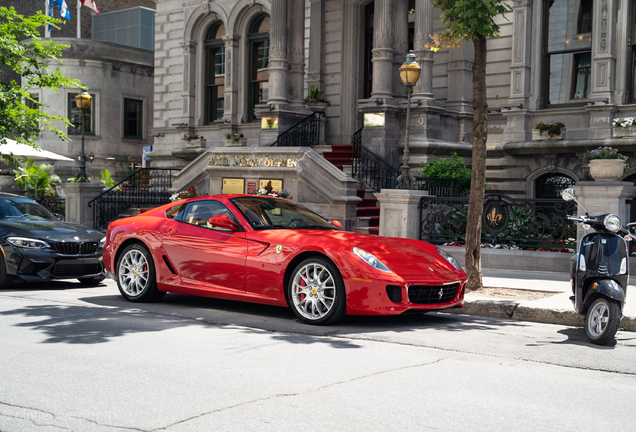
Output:
<svg viewBox="0 0 636 432">
<path fill-rule="evenodd" d="M 488 103 L 486 100 L 486 56 L 488 38 L 499 36 L 495 17 L 510 10 L 500 0 L 431 0 L 440 9 L 446 31 L 432 37 L 429 47 L 437 50 L 472 41 L 473 63 L 473 158 L 466 226 L 465 269 L 468 289 L 482 286 L 481 219 L 486 188 L 486 140 L 488 139 Z"/>
</svg>

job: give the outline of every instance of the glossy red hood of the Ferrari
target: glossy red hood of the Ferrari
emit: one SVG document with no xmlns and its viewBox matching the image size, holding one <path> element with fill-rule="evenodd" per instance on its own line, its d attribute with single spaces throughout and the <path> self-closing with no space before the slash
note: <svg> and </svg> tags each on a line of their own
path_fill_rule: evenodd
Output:
<svg viewBox="0 0 636 432">
<path fill-rule="evenodd" d="M 425 242 L 418 243 L 420 248 L 402 243 L 400 239 L 339 230 L 267 230 L 254 234 L 261 240 L 267 239 L 274 244 L 293 243 L 300 248 L 315 246 L 335 254 L 353 254 L 352 249 L 357 247 L 372 253 L 391 271 L 400 275 L 456 272 L 455 267 L 434 252 L 434 246 Z M 430 252 L 424 249 L 429 249 Z"/>
</svg>

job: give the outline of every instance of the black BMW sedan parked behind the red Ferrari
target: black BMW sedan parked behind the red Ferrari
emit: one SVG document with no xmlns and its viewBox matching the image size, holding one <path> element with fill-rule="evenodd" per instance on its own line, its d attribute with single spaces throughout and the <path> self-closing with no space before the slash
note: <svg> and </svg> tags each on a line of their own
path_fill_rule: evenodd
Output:
<svg viewBox="0 0 636 432">
<path fill-rule="evenodd" d="M 0 193 L 0 288 L 14 281 L 104 280 L 106 238 L 83 225 L 62 222 L 37 202 Z"/>
</svg>

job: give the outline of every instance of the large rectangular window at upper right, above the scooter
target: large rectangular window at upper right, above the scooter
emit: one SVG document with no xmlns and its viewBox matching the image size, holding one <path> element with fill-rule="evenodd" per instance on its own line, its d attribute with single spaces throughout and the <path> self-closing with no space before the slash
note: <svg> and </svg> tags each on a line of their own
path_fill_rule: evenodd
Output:
<svg viewBox="0 0 636 432">
<path fill-rule="evenodd" d="M 543 0 L 541 107 L 582 105 L 591 91 L 593 0 Z"/>
</svg>

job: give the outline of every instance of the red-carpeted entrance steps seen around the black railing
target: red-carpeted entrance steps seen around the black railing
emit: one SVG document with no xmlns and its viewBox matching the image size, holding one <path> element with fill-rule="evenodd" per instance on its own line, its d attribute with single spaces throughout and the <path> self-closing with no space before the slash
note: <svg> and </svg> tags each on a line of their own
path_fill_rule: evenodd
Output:
<svg viewBox="0 0 636 432">
<path fill-rule="evenodd" d="M 353 145 L 332 145 L 331 151 L 322 154 L 336 168 L 351 176 Z M 358 184 L 357 195 L 362 201 L 356 207 L 356 231 L 368 234 L 380 233 L 380 205 L 373 195 L 374 191 Z"/>
</svg>

